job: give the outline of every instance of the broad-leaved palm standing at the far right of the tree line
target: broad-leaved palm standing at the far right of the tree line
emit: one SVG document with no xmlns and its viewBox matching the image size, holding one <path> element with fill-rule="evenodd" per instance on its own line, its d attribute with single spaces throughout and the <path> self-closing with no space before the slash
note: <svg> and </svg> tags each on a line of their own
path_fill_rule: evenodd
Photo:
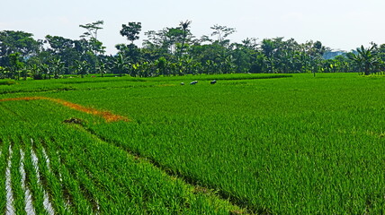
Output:
<svg viewBox="0 0 385 215">
<path fill-rule="evenodd" d="M 372 73 L 372 69 L 380 64 L 377 54 L 374 52 L 375 46 L 365 48 L 363 46 L 357 47 L 357 55 L 353 53 L 348 57 L 363 70 L 365 75 Z"/>
</svg>

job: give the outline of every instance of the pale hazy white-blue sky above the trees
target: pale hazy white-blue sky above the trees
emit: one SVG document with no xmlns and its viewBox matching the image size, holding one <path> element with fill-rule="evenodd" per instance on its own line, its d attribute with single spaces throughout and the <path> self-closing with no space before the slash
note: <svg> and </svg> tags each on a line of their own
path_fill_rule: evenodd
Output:
<svg viewBox="0 0 385 215">
<path fill-rule="evenodd" d="M 284 37 L 343 50 L 385 43 L 384 0 L 3 0 L 1 8 L 0 30 L 27 31 L 35 39 L 78 39 L 85 31 L 79 24 L 103 20 L 98 39 L 108 53 L 128 43 L 119 33 L 128 22 L 142 22 L 140 39 L 145 31 L 189 20 L 198 38 L 219 24 L 237 30 L 233 42 Z"/>
</svg>

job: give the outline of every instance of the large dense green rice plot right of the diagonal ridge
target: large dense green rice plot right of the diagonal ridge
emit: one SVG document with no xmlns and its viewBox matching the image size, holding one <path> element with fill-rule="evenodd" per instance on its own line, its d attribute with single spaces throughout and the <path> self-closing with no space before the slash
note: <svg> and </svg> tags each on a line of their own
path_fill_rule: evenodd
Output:
<svg viewBox="0 0 385 215">
<path fill-rule="evenodd" d="M 180 90 L 165 87 L 157 91 L 120 90 L 116 94 L 106 90 L 108 98 L 99 91 L 101 96 L 89 103 L 118 111 L 121 108 L 121 113 L 124 107 L 136 122 L 92 125 L 92 129 L 109 142 L 152 159 L 187 180 L 219 189 L 224 196 L 234 198 L 235 202 L 245 202 L 255 211 L 381 212 L 381 194 L 370 194 L 378 197 L 371 197 L 371 202 L 375 203 L 368 208 L 366 194 L 357 190 L 363 181 L 352 184 L 352 178 L 344 175 L 365 178 L 365 184 L 372 185 L 383 176 L 380 169 L 375 168 L 381 167 L 381 159 L 371 159 L 370 167 L 362 166 L 361 161 L 356 167 L 334 165 L 342 161 L 346 165 L 352 163 L 354 151 L 362 150 L 357 147 L 365 143 L 373 146 L 363 148 L 368 158 L 381 156 L 382 152 L 375 151 L 383 151 L 381 139 L 351 134 L 357 133 L 357 129 L 365 133 L 375 125 L 378 126 L 375 133 L 381 135 L 383 127 L 376 120 L 383 117 L 381 112 L 373 111 L 376 108 L 371 109 L 374 116 L 363 114 L 368 111 L 357 112 L 363 109 L 362 105 L 381 108 L 383 88 L 376 88 L 381 82 L 371 86 L 372 93 L 376 93 L 371 95 L 372 99 L 367 98 L 366 93 L 354 91 L 357 84 L 368 87 L 367 80 L 328 78 L 311 81 L 311 84 L 318 84 L 315 86 L 306 79 L 269 80 L 259 82 L 259 88 L 253 82 L 242 88 L 218 85 L 215 89 Z M 345 85 L 338 85 L 338 82 Z M 373 84 L 372 80 L 370 82 Z M 278 83 L 282 85 L 265 90 L 264 85 Z M 318 89 L 318 94 L 313 93 L 313 89 Z M 122 94 L 128 96 L 121 99 Z M 119 102 L 113 102 L 113 98 Z M 348 133 L 342 136 L 340 131 Z M 355 148 L 346 149 L 346 146 Z M 373 177 L 352 173 L 354 168 Z M 330 172 L 341 175 L 330 176 Z M 335 190 L 338 185 L 345 186 Z M 317 190 L 313 190 L 314 187 Z M 383 185 L 372 187 L 372 192 L 376 193 L 376 187 Z M 343 196 L 342 193 L 355 197 L 336 198 Z M 282 199 L 282 196 L 286 197 Z"/>
</svg>

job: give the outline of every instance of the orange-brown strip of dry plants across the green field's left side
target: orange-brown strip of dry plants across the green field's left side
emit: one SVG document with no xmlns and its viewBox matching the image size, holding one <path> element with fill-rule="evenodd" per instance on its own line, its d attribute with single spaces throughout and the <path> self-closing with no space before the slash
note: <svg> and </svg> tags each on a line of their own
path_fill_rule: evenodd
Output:
<svg viewBox="0 0 385 215">
<path fill-rule="evenodd" d="M 92 114 L 95 116 L 102 116 L 104 118 L 104 120 L 106 122 L 109 122 L 109 123 L 115 122 L 115 121 L 129 121 L 129 119 L 127 117 L 114 115 L 109 111 L 101 111 L 101 110 L 97 110 L 97 109 L 92 108 L 92 107 L 84 107 L 84 106 L 63 100 L 63 99 L 53 99 L 53 98 L 49 98 L 49 97 L 22 97 L 22 98 L 0 99 L 0 102 L 1 101 L 14 101 L 14 100 L 50 100 L 50 101 L 54 101 L 60 105 L 63 105 L 63 106 L 66 106 L 66 107 L 69 107 L 72 109 L 76 109 L 78 111 L 85 112 L 87 114 Z"/>
</svg>

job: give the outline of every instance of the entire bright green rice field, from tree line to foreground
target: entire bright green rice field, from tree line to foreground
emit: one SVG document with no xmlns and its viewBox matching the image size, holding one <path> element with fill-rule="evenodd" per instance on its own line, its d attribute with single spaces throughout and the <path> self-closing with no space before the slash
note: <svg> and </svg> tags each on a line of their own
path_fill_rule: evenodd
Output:
<svg viewBox="0 0 385 215">
<path fill-rule="evenodd" d="M 0 211 L 385 213 L 382 76 L 87 78 L 0 90 L 0 99 L 64 99 L 130 118 L 0 101 Z"/>
</svg>

